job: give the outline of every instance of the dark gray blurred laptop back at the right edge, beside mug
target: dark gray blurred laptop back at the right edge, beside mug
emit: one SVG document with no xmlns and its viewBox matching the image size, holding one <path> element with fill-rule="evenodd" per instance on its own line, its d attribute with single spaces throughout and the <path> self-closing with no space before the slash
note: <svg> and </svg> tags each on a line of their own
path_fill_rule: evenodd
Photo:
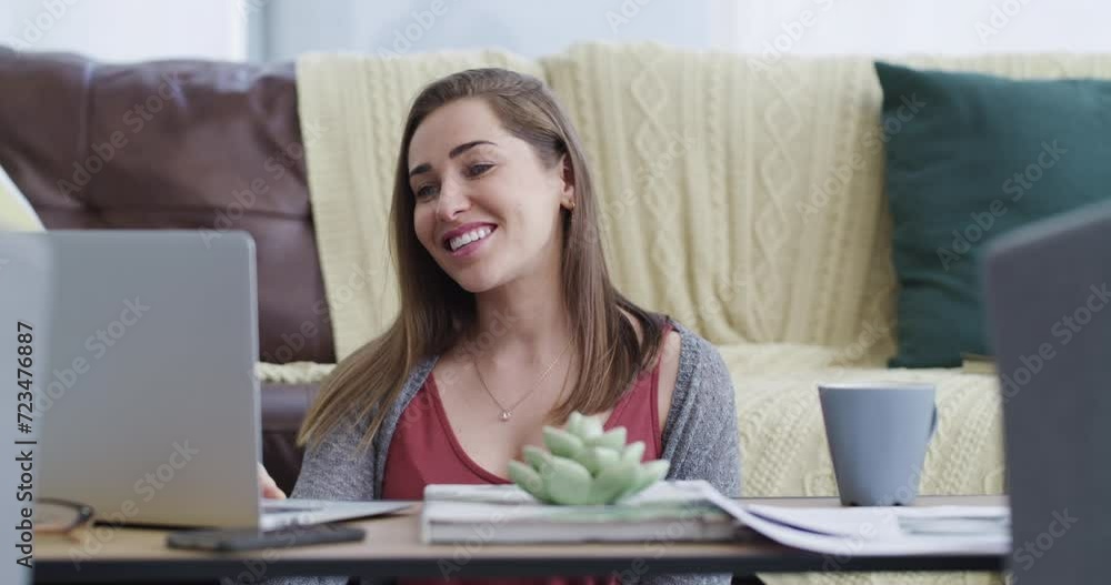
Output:
<svg viewBox="0 0 1111 585">
<path fill-rule="evenodd" d="M 1018 583 L 1107 579 L 1111 205 L 1010 232 L 984 262 Z"/>
</svg>

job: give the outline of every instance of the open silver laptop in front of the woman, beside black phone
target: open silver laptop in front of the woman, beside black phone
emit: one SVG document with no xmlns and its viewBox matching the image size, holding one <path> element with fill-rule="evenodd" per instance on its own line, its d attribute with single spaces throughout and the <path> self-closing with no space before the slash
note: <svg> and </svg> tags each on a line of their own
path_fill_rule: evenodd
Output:
<svg viewBox="0 0 1111 585">
<path fill-rule="evenodd" d="M 0 233 L 0 259 L 4 326 L 33 326 L 37 497 L 106 522 L 262 529 L 406 507 L 260 498 L 247 233 Z"/>
</svg>

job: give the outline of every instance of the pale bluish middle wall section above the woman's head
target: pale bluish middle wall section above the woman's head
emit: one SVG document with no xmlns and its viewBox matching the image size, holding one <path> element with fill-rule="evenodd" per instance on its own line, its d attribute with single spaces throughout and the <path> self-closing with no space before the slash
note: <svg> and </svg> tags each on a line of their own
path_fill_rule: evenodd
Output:
<svg viewBox="0 0 1111 585">
<path fill-rule="evenodd" d="M 693 49 L 725 47 L 722 11 L 733 0 L 361 0 L 272 1 L 267 42 L 252 58 L 292 59 L 304 51 L 397 54 L 497 47 L 524 57 L 554 53 L 578 40 L 654 40 Z"/>
</svg>

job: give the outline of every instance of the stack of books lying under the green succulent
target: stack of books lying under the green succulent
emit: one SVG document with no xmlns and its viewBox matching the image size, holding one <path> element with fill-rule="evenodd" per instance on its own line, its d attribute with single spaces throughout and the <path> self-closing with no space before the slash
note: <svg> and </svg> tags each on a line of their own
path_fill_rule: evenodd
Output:
<svg viewBox="0 0 1111 585">
<path fill-rule="evenodd" d="M 612 505 L 538 502 L 516 485 L 429 485 L 421 512 L 426 543 L 725 541 L 738 524 L 711 503 L 707 482 L 660 482 Z"/>
</svg>

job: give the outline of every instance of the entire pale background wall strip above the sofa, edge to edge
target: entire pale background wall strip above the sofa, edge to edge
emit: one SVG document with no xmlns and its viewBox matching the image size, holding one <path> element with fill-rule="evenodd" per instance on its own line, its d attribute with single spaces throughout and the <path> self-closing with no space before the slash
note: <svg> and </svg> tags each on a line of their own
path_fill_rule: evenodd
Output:
<svg viewBox="0 0 1111 585">
<path fill-rule="evenodd" d="M 289 60 L 579 40 L 781 54 L 1111 52 L 1095 0 L 0 0 L 0 43 L 104 60 Z"/>
</svg>

